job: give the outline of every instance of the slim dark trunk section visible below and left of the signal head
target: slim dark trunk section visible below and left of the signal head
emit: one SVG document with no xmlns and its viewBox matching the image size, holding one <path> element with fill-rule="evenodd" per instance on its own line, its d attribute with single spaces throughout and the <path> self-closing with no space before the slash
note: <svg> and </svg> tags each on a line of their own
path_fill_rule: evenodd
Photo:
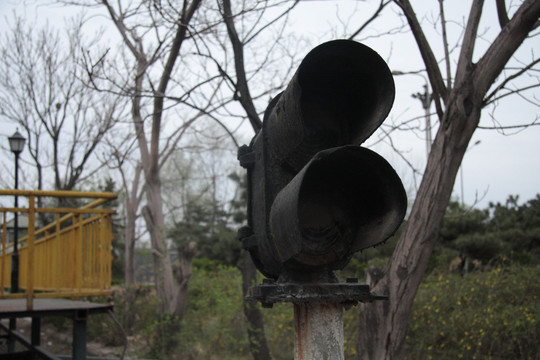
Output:
<svg viewBox="0 0 540 360">
<path fill-rule="evenodd" d="M 257 270 L 249 252 L 242 252 L 242 294 L 244 296 L 244 315 L 248 323 L 249 348 L 254 360 L 270 360 L 270 351 L 264 333 L 262 313 L 254 302 L 246 301 L 248 289 L 257 282 Z"/>
</svg>

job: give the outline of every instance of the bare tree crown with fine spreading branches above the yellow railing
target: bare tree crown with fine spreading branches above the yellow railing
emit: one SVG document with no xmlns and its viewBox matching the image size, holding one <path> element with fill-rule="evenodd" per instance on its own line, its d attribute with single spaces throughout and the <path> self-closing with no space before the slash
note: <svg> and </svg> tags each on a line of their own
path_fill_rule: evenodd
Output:
<svg viewBox="0 0 540 360">
<path fill-rule="evenodd" d="M 72 190 L 93 174 L 96 149 L 123 110 L 82 80 L 82 49 L 99 40 L 83 41 L 83 24 L 75 19 L 65 36 L 16 18 L 0 45 L 0 115 L 22 128 L 37 189 Z"/>
</svg>

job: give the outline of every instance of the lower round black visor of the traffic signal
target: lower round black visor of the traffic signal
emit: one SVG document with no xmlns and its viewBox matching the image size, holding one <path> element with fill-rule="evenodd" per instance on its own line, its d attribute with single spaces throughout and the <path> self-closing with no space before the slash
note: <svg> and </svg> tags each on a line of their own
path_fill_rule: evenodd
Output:
<svg viewBox="0 0 540 360">
<path fill-rule="evenodd" d="M 390 237 L 405 208 L 403 185 L 386 160 L 342 146 L 318 152 L 279 192 L 270 229 L 286 268 L 341 269 Z"/>
</svg>

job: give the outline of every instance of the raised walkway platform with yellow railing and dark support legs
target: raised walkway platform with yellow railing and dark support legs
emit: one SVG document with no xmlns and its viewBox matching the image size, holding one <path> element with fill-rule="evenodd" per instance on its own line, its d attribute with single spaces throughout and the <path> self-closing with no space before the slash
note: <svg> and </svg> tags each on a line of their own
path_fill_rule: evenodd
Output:
<svg viewBox="0 0 540 360">
<path fill-rule="evenodd" d="M 26 197 L 28 207 L 0 207 L 0 341 L 7 351 L 1 359 L 52 359 L 59 357 L 40 345 L 41 319 L 64 316 L 73 321 L 72 359 L 86 356 L 86 321 L 89 315 L 112 312 L 110 304 L 75 301 L 82 296 L 108 295 L 111 290 L 111 209 L 100 208 L 114 193 L 77 191 L 0 190 L 0 196 Z M 38 208 L 37 197 L 94 198 L 80 208 Z M 17 239 L 18 283 L 12 292 L 14 241 L 8 239 L 7 215 L 27 214 L 25 236 Z M 50 213 L 55 220 L 35 229 L 36 214 Z M 17 233 L 14 231 L 14 233 Z M 16 264 L 16 262 L 14 263 Z M 61 299 L 61 298 L 71 298 Z M 30 339 L 16 332 L 17 318 L 31 318 Z M 9 326 L 2 319 L 9 319 Z M 25 349 L 15 350 L 15 344 Z"/>
</svg>

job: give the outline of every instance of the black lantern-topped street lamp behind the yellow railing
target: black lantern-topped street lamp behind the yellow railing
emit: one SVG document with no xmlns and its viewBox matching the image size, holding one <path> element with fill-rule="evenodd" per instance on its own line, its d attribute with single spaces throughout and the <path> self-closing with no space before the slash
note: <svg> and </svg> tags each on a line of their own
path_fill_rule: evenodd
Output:
<svg viewBox="0 0 540 360">
<path fill-rule="evenodd" d="M 11 152 L 15 154 L 15 190 L 19 187 L 19 155 L 24 149 L 26 139 L 19 133 L 18 129 L 9 139 Z M 19 291 L 19 217 L 17 208 L 19 199 L 15 195 L 15 217 L 13 223 L 13 253 L 11 255 L 11 293 Z"/>
</svg>

